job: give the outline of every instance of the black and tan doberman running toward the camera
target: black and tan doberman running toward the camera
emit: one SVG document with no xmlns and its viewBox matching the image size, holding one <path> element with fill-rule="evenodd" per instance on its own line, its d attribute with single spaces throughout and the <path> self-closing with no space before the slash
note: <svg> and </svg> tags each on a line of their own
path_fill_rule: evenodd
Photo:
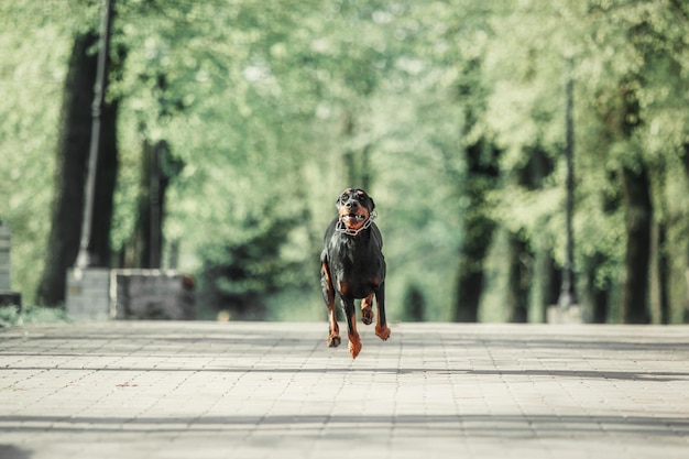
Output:
<svg viewBox="0 0 689 459">
<path fill-rule="evenodd" d="M 357 332 L 354 299 L 361 299 L 361 321 L 373 321 L 373 296 L 378 308 L 375 335 L 390 338 L 385 323 L 385 259 L 383 238 L 373 222 L 373 199 L 359 188 L 348 188 L 337 199 L 337 217 L 326 230 L 325 249 L 320 255 L 320 286 L 328 307 L 330 336 L 328 347 L 340 345 L 335 302 L 344 312 L 348 326 L 349 353 L 357 358 L 361 339 Z"/>
</svg>

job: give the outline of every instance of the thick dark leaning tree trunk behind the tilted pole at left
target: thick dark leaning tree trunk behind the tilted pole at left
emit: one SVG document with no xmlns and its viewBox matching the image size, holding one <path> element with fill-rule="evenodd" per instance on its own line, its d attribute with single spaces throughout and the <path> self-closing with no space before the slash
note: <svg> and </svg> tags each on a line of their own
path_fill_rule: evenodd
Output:
<svg viewBox="0 0 689 459">
<path fill-rule="evenodd" d="M 79 250 L 96 83 L 96 55 L 89 54 L 89 50 L 97 43 L 98 34 L 94 32 L 75 37 L 65 80 L 51 230 L 37 292 L 39 303 L 45 306 L 64 303 L 67 270 L 74 265 Z M 112 194 L 117 176 L 117 108 L 114 102 L 102 109 L 101 146 L 96 171 L 92 247 L 102 263 L 110 259 Z"/>
</svg>

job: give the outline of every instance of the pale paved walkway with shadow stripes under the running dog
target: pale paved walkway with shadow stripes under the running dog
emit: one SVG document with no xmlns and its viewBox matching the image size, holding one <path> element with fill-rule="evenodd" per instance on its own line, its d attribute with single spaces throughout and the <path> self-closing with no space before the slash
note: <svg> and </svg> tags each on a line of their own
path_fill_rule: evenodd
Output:
<svg viewBox="0 0 689 459">
<path fill-rule="evenodd" d="M 689 458 L 689 327 L 0 330 L 0 458 Z"/>
</svg>

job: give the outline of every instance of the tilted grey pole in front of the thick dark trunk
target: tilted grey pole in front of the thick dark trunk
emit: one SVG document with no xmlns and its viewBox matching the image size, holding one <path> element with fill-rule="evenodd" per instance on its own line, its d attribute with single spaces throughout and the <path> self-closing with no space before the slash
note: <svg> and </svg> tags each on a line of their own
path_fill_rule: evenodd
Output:
<svg viewBox="0 0 689 459">
<path fill-rule="evenodd" d="M 88 154 L 88 167 L 86 171 L 86 184 L 84 187 L 84 216 L 81 220 L 81 240 L 76 266 L 88 267 L 97 265 L 100 260 L 92 252 L 91 233 L 94 219 L 94 203 L 96 193 L 96 168 L 98 166 L 98 152 L 100 150 L 100 118 L 108 86 L 108 54 L 110 52 L 110 26 L 112 23 L 112 2 L 105 0 L 105 8 L 100 23 L 100 47 L 98 50 L 98 66 L 96 68 L 96 85 L 94 87 L 91 143 Z"/>
</svg>

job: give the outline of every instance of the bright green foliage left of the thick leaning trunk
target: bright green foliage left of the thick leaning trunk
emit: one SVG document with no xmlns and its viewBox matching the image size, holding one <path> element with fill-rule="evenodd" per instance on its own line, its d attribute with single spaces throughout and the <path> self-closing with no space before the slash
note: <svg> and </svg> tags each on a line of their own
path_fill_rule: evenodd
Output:
<svg viewBox="0 0 689 459">
<path fill-rule="evenodd" d="M 70 34 L 94 19 L 94 3 L 0 4 L 0 221 L 12 229 L 13 284 L 29 303 L 47 237 Z"/>
</svg>

